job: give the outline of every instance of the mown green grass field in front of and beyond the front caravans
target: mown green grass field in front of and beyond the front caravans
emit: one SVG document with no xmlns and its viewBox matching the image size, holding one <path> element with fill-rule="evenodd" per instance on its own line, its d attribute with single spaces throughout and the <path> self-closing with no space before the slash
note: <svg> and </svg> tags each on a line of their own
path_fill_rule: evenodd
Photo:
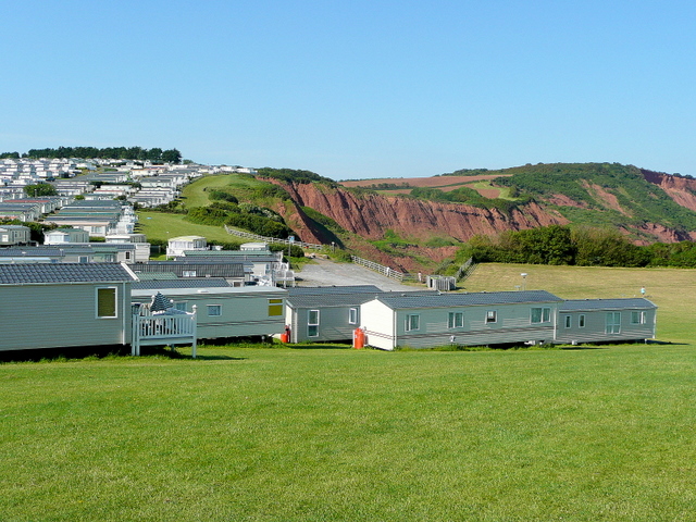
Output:
<svg viewBox="0 0 696 522">
<path fill-rule="evenodd" d="M 561 297 L 645 284 L 672 344 L 0 364 L 0 520 L 694 520 L 696 271 L 467 284 L 521 272 Z"/>
</svg>

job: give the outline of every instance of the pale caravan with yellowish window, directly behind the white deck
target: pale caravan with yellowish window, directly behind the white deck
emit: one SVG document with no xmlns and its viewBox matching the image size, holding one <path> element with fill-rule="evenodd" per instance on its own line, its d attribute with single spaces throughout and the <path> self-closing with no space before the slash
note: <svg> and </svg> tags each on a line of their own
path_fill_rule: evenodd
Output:
<svg viewBox="0 0 696 522">
<path fill-rule="evenodd" d="M 134 289 L 133 302 L 150 302 L 159 291 L 178 310 L 197 308 L 198 338 L 274 335 L 285 327 L 287 290 L 270 286 Z"/>
</svg>

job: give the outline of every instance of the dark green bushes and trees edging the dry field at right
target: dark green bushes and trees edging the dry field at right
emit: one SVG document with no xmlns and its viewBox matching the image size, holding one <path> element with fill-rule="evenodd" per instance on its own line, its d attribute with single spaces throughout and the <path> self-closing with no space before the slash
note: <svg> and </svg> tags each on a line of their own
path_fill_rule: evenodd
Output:
<svg viewBox="0 0 696 522">
<path fill-rule="evenodd" d="M 474 236 L 458 257 L 498 263 L 696 268 L 696 243 L 638 246 L 616 229 L 551 225 Z"/>
</svg>

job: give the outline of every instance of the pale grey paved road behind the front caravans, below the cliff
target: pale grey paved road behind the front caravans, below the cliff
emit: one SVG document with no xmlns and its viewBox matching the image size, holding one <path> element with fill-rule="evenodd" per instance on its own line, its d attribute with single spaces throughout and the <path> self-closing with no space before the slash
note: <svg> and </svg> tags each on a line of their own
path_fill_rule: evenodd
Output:
<svg viewBox="0 0 696 522">
<path fill-rule="evenodd" d="M 385 291 L 417 289 L 358 264 L 334 263 L 326 259 L 315 259 L 314 261 L 316 264 L 306 264 L 301 272 L 296 273 L 298 286 L 374 285 Z"/>
</svg>

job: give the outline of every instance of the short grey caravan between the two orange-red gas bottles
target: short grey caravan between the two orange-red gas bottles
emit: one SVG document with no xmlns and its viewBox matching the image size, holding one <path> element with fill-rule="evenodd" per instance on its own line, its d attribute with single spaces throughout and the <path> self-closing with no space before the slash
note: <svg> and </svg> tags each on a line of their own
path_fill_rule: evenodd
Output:
<svg viewBox="0 0 696 522">
<path fill-rule="evenodd" d="M 360 306 L 380 294 L 373 285 L 290 288 L 285 319 L 290 343 L 352 339 Z"/>
</svg>

